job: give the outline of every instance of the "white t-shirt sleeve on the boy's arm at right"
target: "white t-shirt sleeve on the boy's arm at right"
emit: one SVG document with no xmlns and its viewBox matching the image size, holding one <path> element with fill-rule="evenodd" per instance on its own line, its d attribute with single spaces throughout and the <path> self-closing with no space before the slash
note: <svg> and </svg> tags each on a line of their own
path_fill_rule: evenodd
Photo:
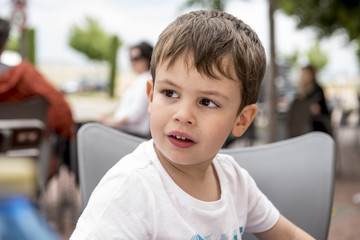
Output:
<svg viewBox="0 0 360 240">
<path fill-rule="evenodd" d="M 248 175 L 248 212 L 245 231 L 264 232 L 272 228 L 280 213 L 270 200 L 257 187 L 254 179 Z"/>
</svg>

